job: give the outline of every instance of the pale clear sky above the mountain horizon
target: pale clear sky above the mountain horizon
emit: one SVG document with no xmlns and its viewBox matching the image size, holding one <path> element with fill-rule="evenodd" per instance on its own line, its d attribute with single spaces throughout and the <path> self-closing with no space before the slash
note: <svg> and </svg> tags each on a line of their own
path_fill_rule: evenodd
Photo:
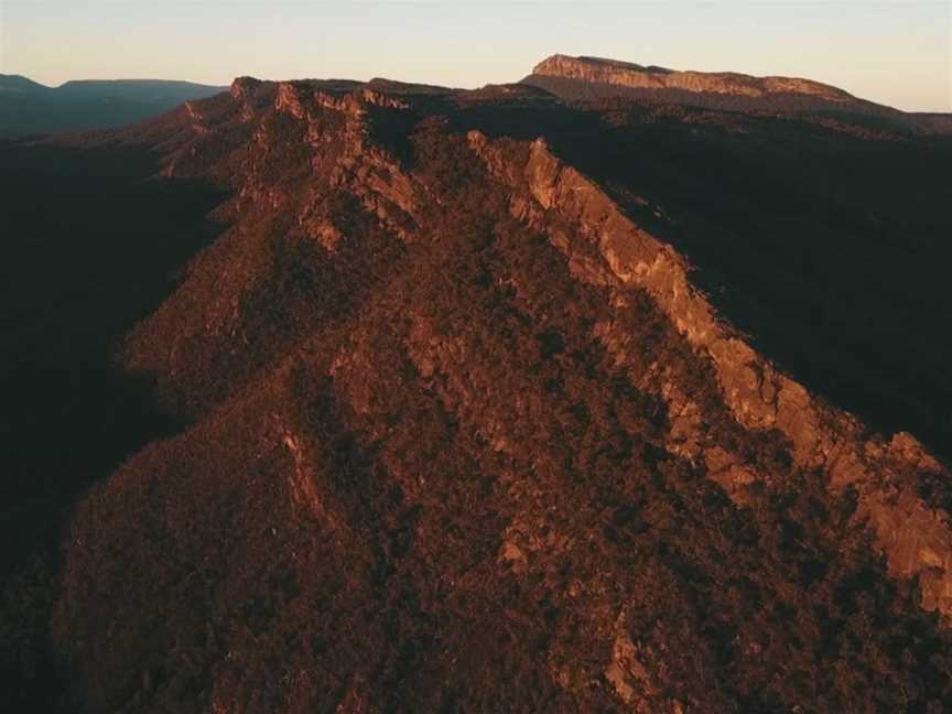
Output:
<svg viewBox="0 0 952 714">
<path fill-rule="evenodd" d="M 0 73 L 515 82 L 547 55 L 804 76 L 952 111 L 952 0 L 0 0 Z"/>
</svg>

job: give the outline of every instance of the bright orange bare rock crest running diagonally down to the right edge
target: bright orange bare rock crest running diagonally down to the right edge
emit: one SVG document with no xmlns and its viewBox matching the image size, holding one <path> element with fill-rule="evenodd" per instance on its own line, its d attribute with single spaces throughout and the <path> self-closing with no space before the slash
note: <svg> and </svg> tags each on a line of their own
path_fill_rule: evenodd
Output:
<svg viewBox="0 0 952 714">
<path fill-rule="evenodd" d="M 921 444 L 906 433 L 896 434 L 891 442 L 879 436 L 867 441 L 855 419 L 778 372 L 717 321 L 711 305 L 690 284 L 683 259 L 623 216 L 592 182 L 561 164 L 544 142 L 533 142 L 524 166 L 511 166 L 478 132 L 470 133 L 469 141 L 490 170 L 510 183 L 517 218 L 540 231 L 551 231 L 544 212 L 555 212 L 570 231 L 598 247 L 623 284 L 637 285 L 651 295 L 678 332 L 712 361 L 724 403 L 739 424 L 748 430 L 778 430 L 791 445 L 793 462 L 801 468 L 824 470 L 834 494 L 847 486 L 856 488 L 861 505 L 857 518 L 873 524 L 890 570 L 898 576 L 919 577 L 923 607 L 952 621 L 952 527 L 946 515 L 930 515 L 916 497 L 916 482 L 922 472 L 943 479 L 948 474 Z M 562 236 L 565 228 L 555 230 L 555 236 Z M 550 240 L 559 240 L 552 236 L 550 232 Z M 571 244 L 562 246 L 571 252 Z M 582 277 L 595 283 L 603 281 L 602 274 Z M 613 339 L 610 329 L 603 335 Z M 685 429 L 706 453 L 708 467 L 715 475 L 723 472 L 725 458 L 729 464 L 731 456 L 720 445 L 703 444 L 701 419 L 691 423 L 688 415 L 694 405 L 685 403 L 683 396 L 671 397 L 666 394 L 678 410 L 669 414 L 672 424 L 677 426 L 686 418 Z M 672 430 L 671 435 L 682 441 L 681 431 Z M 732 486 L 749 485 L 755 479 L 744 469 L 729 478 Z"/>
</svg>

